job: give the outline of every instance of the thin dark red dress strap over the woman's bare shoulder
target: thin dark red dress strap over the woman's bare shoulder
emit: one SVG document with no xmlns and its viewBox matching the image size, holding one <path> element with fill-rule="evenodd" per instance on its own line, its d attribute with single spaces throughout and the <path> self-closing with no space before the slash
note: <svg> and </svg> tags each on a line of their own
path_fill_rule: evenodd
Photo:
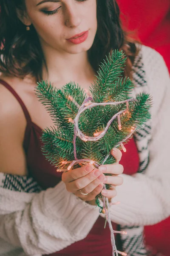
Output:
<svg viewBox="0 0 170 256">
<path fill-rule="evenodd" d="M 24 115 L 26 117 L 26 120 L 28 123 L 31 122 L 31 116 L 26 108 L 26 105 L 23 103 L 22 99 L 20 98 L 20 96 L 16 93 L 16 91 L 11 87 L 11 85 L 9 85 L 6 81 L 0 79 L 0 84 L 3 84 L 13 95 L 14 97 L 17 99 L 17 101 L 20 103 L 21 108 L 23 109 Z"/>
</svg>

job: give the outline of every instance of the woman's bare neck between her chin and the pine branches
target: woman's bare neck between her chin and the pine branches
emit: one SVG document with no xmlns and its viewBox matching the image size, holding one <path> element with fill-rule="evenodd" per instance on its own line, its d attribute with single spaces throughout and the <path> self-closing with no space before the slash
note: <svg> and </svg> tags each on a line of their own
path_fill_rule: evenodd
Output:
<svg viewBox="0 0 170 256">
<path fill-rule="evenodd" d="M 48 71 L 43 67 L 42 77 L 46 81 L 54 84 L 68 83 L 75 81 L 89 80 L 94 76 L 94 70 L 88 61 L 88 52 L 71 54 L 59 52 L 48 46 L 43 46 L 45 61 Z"/>
</svg>

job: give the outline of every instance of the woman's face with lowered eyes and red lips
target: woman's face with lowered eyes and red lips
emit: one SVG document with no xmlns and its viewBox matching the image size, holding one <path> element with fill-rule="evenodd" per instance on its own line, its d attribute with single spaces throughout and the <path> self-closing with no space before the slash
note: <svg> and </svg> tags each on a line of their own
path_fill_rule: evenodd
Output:
<svg viewBox="0 0 170 256">
<path fill-rule="evenodd" d="M 36 29 L 42 46 L 72 54 L 91 48 L 97 30 L 96 0 L 25 1 L 28 22 Z M 84 42 L 74 44 L 67 40 L 87 30 L 88 38 Z"/>
</svg>

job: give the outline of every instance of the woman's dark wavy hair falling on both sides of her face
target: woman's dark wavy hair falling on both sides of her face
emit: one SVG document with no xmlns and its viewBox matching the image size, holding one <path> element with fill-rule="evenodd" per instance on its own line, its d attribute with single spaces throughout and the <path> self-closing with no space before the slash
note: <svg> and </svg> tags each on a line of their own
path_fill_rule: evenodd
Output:
<svg viewBox="0 0 170 256">
<path fill-rule="evenodd" d="M 26 31 L 17 17 L 17 9 L 25 8 L 24 0 L 0 0 L 0 72 L 20 78 L 31 74 L 38 81 L 45 58 L 34 26 Z M 111 50 L 122 49 L 127 55 L 124 75 L 130 76 L 138 49 L 135 41 L 127 39 L 119 15 L 116 0 L 97 0 L 98 29 L 88 59 L 97 71 Z"/>
</svg>

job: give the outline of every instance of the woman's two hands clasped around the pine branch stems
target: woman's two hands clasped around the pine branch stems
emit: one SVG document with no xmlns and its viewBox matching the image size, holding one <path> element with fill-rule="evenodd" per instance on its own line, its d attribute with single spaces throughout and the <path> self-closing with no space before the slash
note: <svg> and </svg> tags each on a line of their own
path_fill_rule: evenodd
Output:
<svg viewBox="0 0 170 256">
<path fill-rule="evenodd" d="M 62 181 L 66 185 L 66 189 L 77 195 L 84 201 L 94 204 L 96 195 L 102 191 L 102 195 L 107 198 L 116 196 L 116 186 L 122 185 L 123 178 L 119 175 L 123 172 L 123 166 L 119 164 L 122 157 L 122 152 L 114 148 L 111 154 L 116 159 L 116 163 L 99 166 L 99 169 L 94 169 L 94 166 L 86 165 L 77 169 L 64 172 Z M 111 174 L 105 176 L 104 173 Z M 111 184 L 109 190 L 103 189 L 103 183 Z M 82 195 L 81 192 L 88 195 Z"/>
</svg>

